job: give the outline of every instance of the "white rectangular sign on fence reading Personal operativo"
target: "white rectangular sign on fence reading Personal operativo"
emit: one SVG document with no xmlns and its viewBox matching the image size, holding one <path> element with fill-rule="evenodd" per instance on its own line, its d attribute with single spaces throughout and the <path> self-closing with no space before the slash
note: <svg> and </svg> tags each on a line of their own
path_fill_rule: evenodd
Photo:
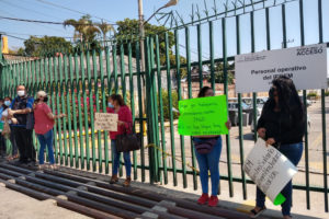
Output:
<svg viewBox="0 0 329 219">
<path fill-rule="evenodd" d="M 317 44 L 235 57 L 237 93 L 269 91 L 273 79 L 291 78 L 297 90 L 327 89 L 327 45 Z"/>
</svg>

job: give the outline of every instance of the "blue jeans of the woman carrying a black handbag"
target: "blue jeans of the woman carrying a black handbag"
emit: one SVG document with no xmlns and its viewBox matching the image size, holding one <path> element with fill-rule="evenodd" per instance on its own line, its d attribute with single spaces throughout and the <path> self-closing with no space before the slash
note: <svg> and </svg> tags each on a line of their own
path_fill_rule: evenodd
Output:
<svg viewBox="0 0 329 219">
<path fill-rule="evenodd" d="M 116 151 L 115 140 L 111 140 L 111 150 L 113 154 L 113 163 L 112 163 L 112 175 L 117 175 L 118 166 L 120 166 L 120 159 L 121 152 Z M 126 166 L 126 175 L 131 177 L 132 175 L 132 161 L 131 161 L 131 152 L 124 152 L 124 161 Z"/>
</svg>

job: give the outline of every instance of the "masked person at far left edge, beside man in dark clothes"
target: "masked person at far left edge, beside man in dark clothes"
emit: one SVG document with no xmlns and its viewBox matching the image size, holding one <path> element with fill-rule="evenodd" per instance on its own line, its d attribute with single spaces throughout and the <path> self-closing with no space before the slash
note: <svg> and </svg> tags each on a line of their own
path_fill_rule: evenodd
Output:
<svg viewBox="0 0 329 219">
<path fill-rule="evenodd" d="M 9 125 L 10 125 L 10 129 L 11 129 L 11 131 L 10 131 L 10 138 L 9 138 L 9 140 L 10 140 L 10 142 L 11 142 L 11 155 L 9 155 L 8 158 L 7 158 L 7 160 L 8 161 L 11 161 L 11 160 L 14 160 L 14 159 L 16 159 L 16 158 L 19 158 L 19 153 L 18 153 L 18 146 L 16 146 L 16 141 L 15 141 L 15 139 L 14 139 L 14 134 L 13 134 L 13 131 L 12 131 L 12 124 L 13 124 L 13 122 L 12 120 L 14 120 L 15 123 L 16 123 L 16 120 L 15 120 L 15 118 L 9 118 L 9 115 L 8 115 L 8 111 L 9 111 L 9 107 L 10 107 L 10 105 L 11 105 L 11 97 L 10 96 L 7 96 L 5 99 L 4 99 L 4 103 L 3 103 L 3 112 L 2 112 L 2 117 L 1 117 L 1 120 L 4 123 L 5 120 L 9 123 Z"/>
</svg>

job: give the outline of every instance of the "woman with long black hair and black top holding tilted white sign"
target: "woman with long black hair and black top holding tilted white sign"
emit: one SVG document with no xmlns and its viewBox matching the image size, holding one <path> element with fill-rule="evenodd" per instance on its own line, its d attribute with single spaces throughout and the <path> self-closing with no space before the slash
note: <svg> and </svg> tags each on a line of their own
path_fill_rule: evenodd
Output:
<svg viewBox="0 0 329 219">
<path fill-rule="evenodd" d="M 297 165 L 303 154 L 303 136 L 305 134 L 305 111 L 299 100 L 293 80 L 281 76 L 272 81 L 269 100 L 264 104 L 258 122 L 258 135 L 266 145 L 275 147 L 294 165 Z M 293 186 L 290 181 L 281 194 L 286 200 L 281 205 L 284 219 L 292 218 Z M 265 207 L 265 194 L 257 187 L 257 205 L 251 210 L 251 218 L 257 218 Z"/>
</svg>

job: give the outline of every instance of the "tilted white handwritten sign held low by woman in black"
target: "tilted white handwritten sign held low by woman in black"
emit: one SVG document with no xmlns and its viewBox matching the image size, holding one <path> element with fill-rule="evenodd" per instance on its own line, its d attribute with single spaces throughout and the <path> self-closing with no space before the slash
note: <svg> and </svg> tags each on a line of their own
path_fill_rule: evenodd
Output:
<svg viewBox="0 0 329 219">
<path fill-rule="evenodd" d="M 297 173 L 297 168 L 285 155 L 272 146 L 266 147 L 261 138 L 248 154 L 243 170 L 273 203 Z"/>
</svg>

